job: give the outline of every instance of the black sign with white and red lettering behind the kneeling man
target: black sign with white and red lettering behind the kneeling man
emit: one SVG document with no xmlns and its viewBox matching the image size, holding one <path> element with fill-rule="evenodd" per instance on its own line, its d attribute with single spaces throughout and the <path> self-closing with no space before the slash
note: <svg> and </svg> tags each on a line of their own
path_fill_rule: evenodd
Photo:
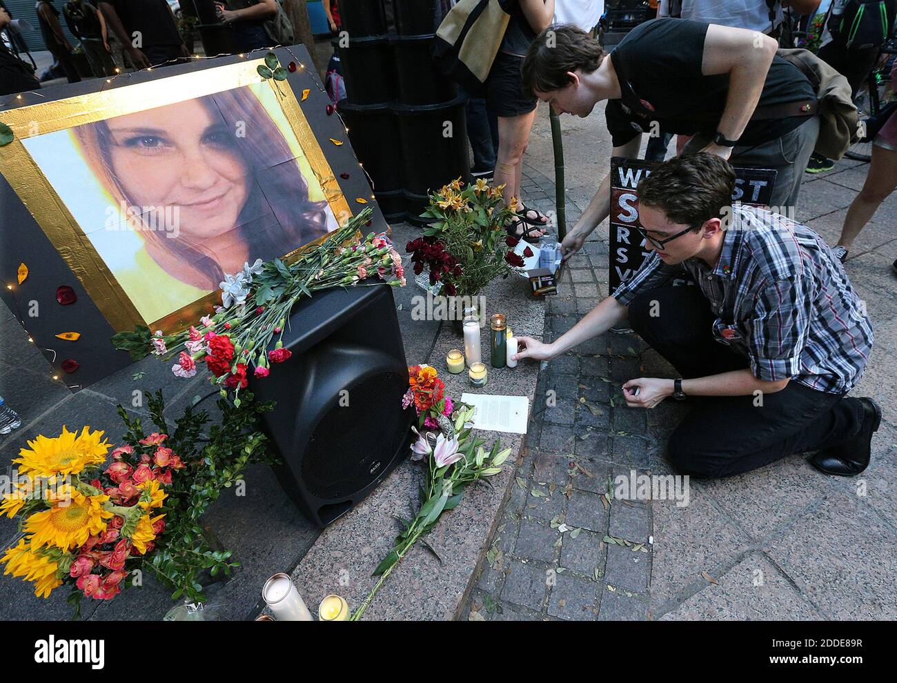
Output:
<svg viewBox="0 0 897 683">
<path fill-rule="evenodd" d="M 639 270 L 649 256 L 639 228 L 639 192 L 637 187 L 658 161 L 614 157 L 611 160 L 610 213 L 610 292 Z M 770 203 L 776 179 L 775 169 L 735 169 L 736 188 L 733 202 L 766 206 Z"/>
</svg>

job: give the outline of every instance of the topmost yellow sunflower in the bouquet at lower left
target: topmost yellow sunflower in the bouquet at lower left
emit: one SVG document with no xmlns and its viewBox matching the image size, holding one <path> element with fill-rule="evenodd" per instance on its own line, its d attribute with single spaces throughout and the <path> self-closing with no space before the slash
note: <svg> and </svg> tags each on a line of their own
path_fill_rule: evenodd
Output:
<svg viewBox="0 0 897 683">
<path fill-rule="evenodd" d="M 20 472 L 27 472 L 32 477 L 54 478 L 57 475 L 77 474 L 85 467 L 100 464 L 109 453 L 109 443 L 100 442 L 103 432 L 91 432 L 89 427 L 83 428 L 80 435 L 70 432 L 63 426 L 62 434 L 56 438 L 40 435 L 29 441 L 30 450 L 22 448 L 19 457 L 13 463 L 19 464 Z"/>
</svg>

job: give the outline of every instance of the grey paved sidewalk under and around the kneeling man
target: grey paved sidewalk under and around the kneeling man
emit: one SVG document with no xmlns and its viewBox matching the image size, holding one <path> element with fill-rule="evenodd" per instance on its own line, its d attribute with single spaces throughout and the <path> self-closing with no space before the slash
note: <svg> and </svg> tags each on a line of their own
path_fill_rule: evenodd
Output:
<svg viewBox="0 0 897 683">
<path fill-rule="evenodd" d="M 604 115 L 562 117 L 568 226 L 588 205 L 610 142 Z M 554 209 L 553 154 L 540 106 L 526 155 L 524 199 Z M 867 165 L 843 160 L 805 174 L 797 219 L 834 244 Z M 858 478 L 826 477 L 795 455 L 727 480 L 692 480 L 688 505 L 614 499 L 618 475 L 666 474 L 666 438 L 684 407 L 629 409 L 620 386 L 674 376 L 634 335 L 606 334 L 544 363 L 527 453 L 488 543 L 472 619 L 884 619 L 897 617 L 897 196 L 851 250 L 847 271 L 875 327 L 853 395 L 872 395 L 884 422 Z M 570 263 L 548 304 L 557 338 L 607 296 L 607 223 Z"/>
</svg>

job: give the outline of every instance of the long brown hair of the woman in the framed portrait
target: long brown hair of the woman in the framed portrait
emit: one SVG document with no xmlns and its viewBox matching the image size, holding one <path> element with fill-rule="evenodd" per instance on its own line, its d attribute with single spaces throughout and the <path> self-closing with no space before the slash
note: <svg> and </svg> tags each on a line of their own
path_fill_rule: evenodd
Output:
<svg viewBox="0 0 897 683">
<path fill-rule="evenodd" d="M 216 92 L 197 98 L 196 101 L 211 112 L 213 117 L 224 118 L 234 136 L 234 147 L 247 167 L 248 197 L 239 212 L 238 226 L 240 237 L 250 249 L 250 263 L 257 257 L 270 260 L 283 256 L 327 233 L 327 202 L 309 201 L 308 183 L 302 175 L 298 160 L 293 158 L 289 143 L 248 87 Z M 238 135 L 239 129 L 247 134 Z M 116 203 L 136 205 L 113 169 L 113 141 L 106 121 L 79 125 L 73 129 L 73 133 L 94 176 Z M 289 161 L 278 164 L 276 171 L 266 174 L 263 194 L 263 183 L 258 172 L 271 168 L 276 160 L 281 159 Z M 269 229 L 248 229 L 258 228 L 259 221 L 265 220 L 258 217 L 268 213 L 268 206 L 274 213 L 274 221 L 269 218 L 263 227 L 270 226 L 273 222 L 274 228 L 280 229 L 280 238 L 273 237 Z M 203 246 L 191 246 L 181 240 L 179 246 L 173 248 L 175 240 L 165 238 L 160 230 L 155 229 L 142 230 L 141 236 L 145 242 L 152 241 L 153 246 L 164 250 L 177 263 L 196 268 L 210 281 L 217 284 L 224 279 L 221 266 Z M 152 250 L 148 251 L 152 255 Z M 162 264 L 160 266 L 164 267 Z M 170 272 L 170 275 L 178 277 L 175 272 Z"/>
</svg>

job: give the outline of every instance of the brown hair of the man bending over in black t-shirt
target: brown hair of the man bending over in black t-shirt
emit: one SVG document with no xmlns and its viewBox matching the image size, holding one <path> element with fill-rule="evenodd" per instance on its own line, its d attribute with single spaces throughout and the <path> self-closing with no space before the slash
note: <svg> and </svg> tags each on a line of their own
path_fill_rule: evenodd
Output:
<svg viewBox="0 0 897 683">
<path fill-rule="evenodd" d="M 523 89 L 561 90 L 570 83 L 568 71 L 593 72 L 604 58 L 605 51 L 586 31 L 569 23 L 549 26 L 527 50 L 521 68 Z"/>
</svg>

